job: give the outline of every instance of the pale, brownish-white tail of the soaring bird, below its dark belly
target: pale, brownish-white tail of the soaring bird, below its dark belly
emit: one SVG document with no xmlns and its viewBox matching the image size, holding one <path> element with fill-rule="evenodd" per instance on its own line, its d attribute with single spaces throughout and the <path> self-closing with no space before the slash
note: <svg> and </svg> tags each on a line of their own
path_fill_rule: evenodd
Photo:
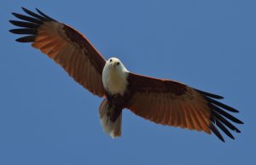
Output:
<svg viewBox="0 0 256 165">
<path fill-rule="evenodd" d="M 112 138 L 117 138 L 121 136 L 122 112 L 120 112 L 120 115 L 115 120 L 115 122 L 112 122 L 110 117 L 107 115 L 108 108 L 108 100 L 105 98 L 99 107 L 99 115 L 102 122 L 102 127 L 105 133 L 110 135 Z"/>
</svg>

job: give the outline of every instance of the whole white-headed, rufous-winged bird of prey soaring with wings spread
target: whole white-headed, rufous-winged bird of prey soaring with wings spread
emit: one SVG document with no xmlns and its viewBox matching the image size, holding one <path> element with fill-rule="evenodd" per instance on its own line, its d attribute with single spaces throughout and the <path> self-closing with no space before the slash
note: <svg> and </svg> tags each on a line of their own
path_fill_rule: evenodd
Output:
<svg viewBox="0 0 256 165">
<path fill-rule="evenodd" d="M 55 60 L 77 83 L 103 97 L 99 117 L 104 131 L 111 137 L 121 135 L 123 109 L 162 125 L 213 133 L 222 141 L 219 129 L 231 139 L 234 136 L 230 130 L 240 133 L 231 122 L 243 122 L 229 113 L 238 111 L 219 102 L 224 99 L 222 96 L 172 80 L 132 73 L 117 58 L 105 60 L 73 27 L 38 9 L 38 14 L 22 9 L 27 15 L 13 13 L 20 20 L 9 20 L 20 27 L 10 32 L 25 35 L 16 41 L 32 43 L 33 48 Z"/>
</svg>

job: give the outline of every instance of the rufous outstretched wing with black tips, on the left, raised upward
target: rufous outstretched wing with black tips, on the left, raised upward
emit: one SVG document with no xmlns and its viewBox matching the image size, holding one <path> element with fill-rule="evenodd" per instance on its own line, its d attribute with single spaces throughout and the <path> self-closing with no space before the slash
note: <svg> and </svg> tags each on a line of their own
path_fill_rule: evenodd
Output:
<svg viewBox="0 0 256 165">
<path fill-rule="evenodd" d="M 16 41 L 32 43 L 49 58 L 61 65 L 73 79 L 92 94 L 104 95 L 102 70 L 106 60 L 96 51 L 91 43 L 72 27 L 58 22 L 37 9 L 38 14 L 22 8 L 26 14 L 16 14 L 20 20 L 9 22 L 19 29 L 10 32 L 26 35 Z"/>
</svg>

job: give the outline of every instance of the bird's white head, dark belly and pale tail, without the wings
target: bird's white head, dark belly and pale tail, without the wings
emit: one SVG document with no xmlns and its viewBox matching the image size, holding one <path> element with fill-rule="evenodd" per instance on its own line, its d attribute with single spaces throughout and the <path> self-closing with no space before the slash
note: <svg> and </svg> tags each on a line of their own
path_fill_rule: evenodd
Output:
<svg viewBox="0 0 256 165">
<path fill-rule="evenodd" d="M 102 71 L 107 99 L 103 101 L 106 105 L 100 106 L 100 118 L 105 132 L 113 138 L 121 135 L 121 114 L 128 99 L 128 75 L 129 71 L 117 58 L 107 60 Z"/>
</svg>

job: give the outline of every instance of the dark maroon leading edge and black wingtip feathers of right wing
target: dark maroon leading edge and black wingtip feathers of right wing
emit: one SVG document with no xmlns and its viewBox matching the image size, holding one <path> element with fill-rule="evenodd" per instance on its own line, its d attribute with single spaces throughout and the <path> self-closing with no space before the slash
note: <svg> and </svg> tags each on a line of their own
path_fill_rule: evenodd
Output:
<svg viewBox="0 0 256 165">
<path fill-rule="evenodd" d="M 149 83 L 149 81 L 153 81 L 154 83 Z M 178 83 L 166 79 L 157 79 L 154 77 L 145 77 L 143 75 L 138 75 L 131 72 L 128 77 L 128 82 L 131 86 L 130 88 L 136 88 L 131 89 L 135 90 L 133 91 L 133 93 L 136 93 L 137 91 L 148 92 L 148 88 L 154 88 L 154 92 L 171 92 L 172 94 L 175 94 L 177 97 L 179 97 L 183 96 L 183 94 L 186 94 L 187 89 L 190 88 L 183 83 Z M 241 120 L 237 119 L 236 117 L 230 115 L 230 113 L 228 113 L 227 111 L 236 113 L 239 111 L 237 111 L 235 108 L 230 107 L 229 105 L 224 105 L 223 103 L 217 101 L 224 99 L 224 97 L 222 96 L 207 93 L 196 88 L 191 89 L 194 90 L 196 93 L 200 94 L 201 97 L 204 98 L 204 100 L 207 102 L 206 106 L 210 110 L 210 118 L 208 119 L 210 120 L 210 124 L 208 125 L 208 128 L 212 130 L 213 134 L 215 134 L 218 139 L 224 142 L 222 134 L 220 134 L 218 131 L 219 128 L 224 132 L 224 134 L 229 136 L 230 139 L 235 139 L 234 136 L 230 134 L 229 129 L 235 131 L 236 133 L 241 133 L 241 131 L 236 128 L 231 122 L 235 122 L 238 124 L 243 124 L 243 122 L 241 122 Z M 211 134 L 211 132 L 207 134 Z"/>
</svg>

